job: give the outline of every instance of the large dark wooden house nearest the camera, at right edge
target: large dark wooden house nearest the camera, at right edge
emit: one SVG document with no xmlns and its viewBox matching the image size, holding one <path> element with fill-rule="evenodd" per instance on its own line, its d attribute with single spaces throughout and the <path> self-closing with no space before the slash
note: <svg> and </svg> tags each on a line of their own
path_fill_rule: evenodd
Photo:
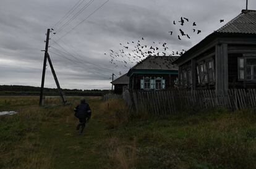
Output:
<svg viewBox="0 0 256 169">
<path fill-rule="evenodd" d="M 256 88 L 256 10 L 242 10 L 174 64 L 181 88 Z"/>
</svg>

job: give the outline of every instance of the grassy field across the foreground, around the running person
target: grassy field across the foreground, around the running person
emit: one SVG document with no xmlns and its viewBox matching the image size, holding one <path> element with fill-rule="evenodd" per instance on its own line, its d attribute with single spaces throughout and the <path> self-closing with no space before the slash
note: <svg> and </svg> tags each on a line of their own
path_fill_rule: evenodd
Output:
<svg viewBox="0 0 256 169">
<path fill-rule="evenodd" d="M 122 101 L 86 97 L 93 115 L 79 136 L 73 109 L 48 98 L 0 97 L 0 168 L 256 168 L 256 113 L 218 109 L 151 117 Z M 56 104 L 56 105 L 50 105 Z"/>
</svg>

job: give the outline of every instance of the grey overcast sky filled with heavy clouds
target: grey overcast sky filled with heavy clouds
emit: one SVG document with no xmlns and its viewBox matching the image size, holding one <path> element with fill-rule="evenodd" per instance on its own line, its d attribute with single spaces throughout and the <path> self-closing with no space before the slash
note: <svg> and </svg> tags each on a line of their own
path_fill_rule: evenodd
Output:
<svg viewBox="0 0 256 169">
<path fill-rule="evenodd" d="M 88 2 L 92 3 L 59 30 L 70 17 L 64 22 L 58 21 L 77 2 L 81 4 L 70 17 Z M 41 85 L 44 57 L 41 50 L 45 49 L 47 28 L 57 31 L 56 35 L 54 31 L 51 33 L 49 54 L 62 88 L 109 89 L 112 72 L 119 76 L 118 72 L 124 74 L 129 70 L 122 64 L 115 67 L 109 63 L 109 49 L 118 51 L 119 43 L 143 37 L 145 44 L 165 42 L 169 50 L 187 50 L 245 8 L 245 0 L 110 0 L 82 22 L 104 2 L 106 0 L 1 0 L 0 85 Z M 249 0 L 249 9 L 256 9 L 256 1 Z M 191 35 L 191 39 L 177 39 L 181 26 L 173 25 L 173 20 L 177 22 L 181 17 L 190 19 L 183 30 L 192 33 L 191 24 L 196 22 L 202 33 Z M 220 19 L 224 22 L 220 23 Z M 174 35 L 170 36 L 168 31 Z M 56 88 L 49 66 L 45 86 Z"/>
</svg>

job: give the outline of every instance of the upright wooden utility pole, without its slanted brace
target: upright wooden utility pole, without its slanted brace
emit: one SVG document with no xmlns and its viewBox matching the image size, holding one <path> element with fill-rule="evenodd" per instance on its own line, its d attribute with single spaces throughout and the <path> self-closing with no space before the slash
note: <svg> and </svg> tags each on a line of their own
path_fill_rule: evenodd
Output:
<svg viewBox="0 0 256 169">
<path fill-rule="evenodd" d="M 41 81 L 39 105 L 42 105 L 42 102 L 43 102 L 43 88 L 45 86 L 45 70 L 46 70 L 46 61 L 47 61 L 48 46 L 49 46 L 49 33 L 50 33 L 50 29 L 47 30 L 47 34 L 46 34 L 45 59 L 43 60 L 43 75 L 42 75 L 42 81 Z"/>
</svg>

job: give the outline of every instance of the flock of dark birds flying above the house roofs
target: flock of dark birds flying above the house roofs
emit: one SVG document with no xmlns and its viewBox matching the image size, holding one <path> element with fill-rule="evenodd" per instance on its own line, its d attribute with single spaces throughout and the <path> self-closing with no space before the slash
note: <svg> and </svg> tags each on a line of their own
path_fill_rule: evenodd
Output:
<svg viewBox="0 0 256 169">
<path fill-rule="evenodd" d="M 181 26 L 186 25 L 190 22 L 190 19 L 186 17 L 181 17 L 180 20 L 173 21 L 173 25 Z M 224 20 L 220 20 L 220 23 L 224 22 Z M 197 23 L 193 22 L 192 24 L 193 32 L 198 35 L 202 33 L 202 30 L 197 29 Z M 174 31 L 169 31 L 169 35 L 173 36 Z M 182 40 L 181 37 L 186 37 L 187 39 L 192 38 L 188 33 L 179 28 L 179 35 L 177 35 L 177 39 Z M 150 45 L 144 43 L 145 38 L 141 38 L 138 41 L 128 41 L 126 43 L 120 43 L 121 49 L 118 51 L 114 51 L 113 49 L 109 49 L 109 63 L 114 65 L 114 68 L 124 67 L 131 68 L 132 65 L 139 63 L 140 60 L 145 59 L 147 56 L 181 56 L 186 52 L 184 49 L 181 51 L 170 51 L 167 43 L 155 42 Z M 107 53 L 105 53 L 107 55 Z M 121 72 L 119 72 L 121 74 Z"/>
</svg>

